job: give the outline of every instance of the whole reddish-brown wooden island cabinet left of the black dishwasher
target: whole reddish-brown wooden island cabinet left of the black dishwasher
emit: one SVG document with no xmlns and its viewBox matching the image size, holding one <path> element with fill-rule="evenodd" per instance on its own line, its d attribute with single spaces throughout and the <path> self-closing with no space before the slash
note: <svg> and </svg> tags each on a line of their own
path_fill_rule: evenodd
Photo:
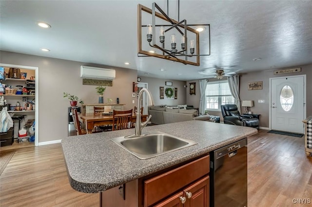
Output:
<svg viewBox="0 0 312 207">
<path fill-rule="evenodd" d="M 171 170 L 126 183 L 124 197 L 120 187 L 101 192 L 101 206 L 208 207 L 209 170 L 210 157 L 205 155 Z"/>
</svg>

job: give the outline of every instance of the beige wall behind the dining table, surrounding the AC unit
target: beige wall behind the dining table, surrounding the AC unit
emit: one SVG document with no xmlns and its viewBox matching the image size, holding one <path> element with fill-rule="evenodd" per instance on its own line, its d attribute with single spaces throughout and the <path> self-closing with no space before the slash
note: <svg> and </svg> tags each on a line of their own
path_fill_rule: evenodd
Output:
<svg viewBox="0 0 312 207">
<path fill-rule="evenodd" d="M 110 66 L 95 65 L 68 61 L 41 56 L 0 52 L 0 63 L 39 68 L 39 143 L 59 140 L 68 135 L 68 107 L 69 100 L 63 98 L 63 92 L 77 95 L 85 104 L 98 103 L 96 86 L 82 85 L 80 78 L 80 66 L 87 65 L 100 68 L 116 69 L 116 79 L 113 86 L 107 87 L 104 92 L 104 101 L 117 97 L 124 109 L 131 109 L 132 83 L 137 81 L 137 70 L 115 68 Z M 136 101 L 135 101 L 136 103 Z"/>
</svg>

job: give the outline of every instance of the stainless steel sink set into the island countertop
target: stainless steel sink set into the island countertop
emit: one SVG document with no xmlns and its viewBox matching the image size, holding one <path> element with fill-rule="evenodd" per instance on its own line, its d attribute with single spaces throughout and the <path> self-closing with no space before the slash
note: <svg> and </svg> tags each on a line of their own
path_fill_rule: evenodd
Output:
<svg viewBox="0 0 312 207">
<path fill-rule="evenodd" d="M 195 141 L 156 132 L 136 138 L 112 138 L 113 142 L 140 159 L 148 159 L 197 144 Z"/>
</svg>

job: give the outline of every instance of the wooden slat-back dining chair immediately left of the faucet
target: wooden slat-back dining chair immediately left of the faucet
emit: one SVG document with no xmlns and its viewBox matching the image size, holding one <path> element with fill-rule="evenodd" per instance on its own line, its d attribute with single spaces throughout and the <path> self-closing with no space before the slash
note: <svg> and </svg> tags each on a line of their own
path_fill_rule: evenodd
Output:
<svg viewBox="0 0 312 207">
<path fill-rule="evenodd" d="M 130 129 L 132 124 L 133 109 L 126 111 L 113 110 L 113 127 L 112 130 Z"/>
</svg>

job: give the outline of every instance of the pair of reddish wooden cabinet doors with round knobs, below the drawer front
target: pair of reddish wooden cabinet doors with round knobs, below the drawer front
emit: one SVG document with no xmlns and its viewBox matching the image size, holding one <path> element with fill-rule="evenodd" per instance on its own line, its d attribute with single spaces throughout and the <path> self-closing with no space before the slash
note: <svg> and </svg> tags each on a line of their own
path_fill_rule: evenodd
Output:
<svg viewBox="0 0 312 207">
<path fill-rule="evenodd" d="M 155 207 L 208 207 L 209 176 L 200 179 L 183 191 L 160 202 Z"/>
</svg>

